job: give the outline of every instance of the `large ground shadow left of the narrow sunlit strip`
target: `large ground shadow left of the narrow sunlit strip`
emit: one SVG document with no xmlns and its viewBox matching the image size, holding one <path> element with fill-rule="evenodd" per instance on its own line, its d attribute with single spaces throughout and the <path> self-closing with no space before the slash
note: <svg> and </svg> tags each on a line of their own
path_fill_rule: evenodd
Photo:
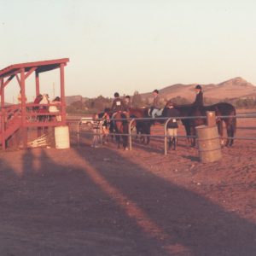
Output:
<svg viewBox="0 0 256 256">
<path fill-rule="evenodd" d="M 168 255 L 86 168 L 56 164 L 69 150 L 36 152 L 24 151 L 21 172 L 1 159 L 1 255 Z"/>
</svg>

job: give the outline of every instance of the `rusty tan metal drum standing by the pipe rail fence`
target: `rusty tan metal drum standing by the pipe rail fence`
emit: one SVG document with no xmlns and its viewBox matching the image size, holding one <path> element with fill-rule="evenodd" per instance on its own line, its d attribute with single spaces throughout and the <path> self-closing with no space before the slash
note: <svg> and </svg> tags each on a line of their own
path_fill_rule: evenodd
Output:
<svg viewBox="0 0 256 256">
<path fill-rule="evenodd" d="M 199 158 L 202 163 L 211 163 L 222 158 L 217 126 L 195 127 Z"/>
</svg>

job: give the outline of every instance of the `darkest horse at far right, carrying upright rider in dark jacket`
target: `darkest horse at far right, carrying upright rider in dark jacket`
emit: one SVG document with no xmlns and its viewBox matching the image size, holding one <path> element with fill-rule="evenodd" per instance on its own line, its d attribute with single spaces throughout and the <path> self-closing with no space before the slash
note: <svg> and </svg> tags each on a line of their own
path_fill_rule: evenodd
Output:
<svg viewBox="0 0 256 256">
<path fill-rule="evenodd" d="M 166 105 L 168 102 L 166 103 Z M 200 117 L 206 116 L 207 111 L 215 111 L 217 119 L 216 124 L 218 125 L 218 133 L 220 137 L 224 137 L 225 124 L 227 131 L 226 147 L 230 147 L 234 143 L 234 137 L 236 133 L 236 108 L 230 103 L 219 102 L 211 106 L 194 107 L 193 105 L 177 105 L 175 106 L 179 111 L 181 117 Z M 165 116 L 165 109 L 163 115 Z M 219 117 L 223 116 L 223 117 Z M 219 118 L 218 118 L 219 117 Z M 206 119 L 195 118 L 195 119 L 182 119 L 182 123 L 185 127 L 187 136 L 195 136 L 195 127 L 198 125 L 205 125 Z M 195 138 L 191 138 L 190 143 L 195 146 Z M 224 139 L 221 141 L 224 144 Z"/>
</svg>

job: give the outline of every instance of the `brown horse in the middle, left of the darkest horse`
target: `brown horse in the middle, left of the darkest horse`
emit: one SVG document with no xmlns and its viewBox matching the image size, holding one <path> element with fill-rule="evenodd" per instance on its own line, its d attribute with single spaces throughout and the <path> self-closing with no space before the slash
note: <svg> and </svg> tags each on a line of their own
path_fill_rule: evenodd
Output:
<svg viewBox="0 0 256 256">
<path fill-rule="evenodd" d="M 130 117 L 138 118 L 141 120 L 135 120 L 135 126 L 137 130 L 137 136 L 139 134 L 143 135 L 142 142 L 148 144 L 150 142 L 150 130 L 152 121 L 142 120 L 143 118 L 148 118 L 148 108 L 130 108 Z"/>
</svg>

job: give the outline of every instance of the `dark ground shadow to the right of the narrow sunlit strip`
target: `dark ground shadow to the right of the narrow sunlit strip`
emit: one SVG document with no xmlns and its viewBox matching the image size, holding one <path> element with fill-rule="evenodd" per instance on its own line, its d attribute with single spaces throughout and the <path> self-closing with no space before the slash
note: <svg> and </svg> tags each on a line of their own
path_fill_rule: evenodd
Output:
<svg viewBox="0 0 256 256">
<path fill-rule="evenodd" d="M 169 236 L 169 240 L 162 241 L 163 247 L 183 245 L 188 249 L 180 252 L 184 255 L 254 255 L 254 223 L 226 212 L 201 195 L 156 177 L 117 151 L 99 148 L 97 158 L 93 157 L 94 151 L 88 148 L 84 151 L 77 150 L 77 153 Z M 119 166 L 114 166 L 114 161 L 113 165 L 102 165 L 102 155 L 109 160 L 121 158 Z"/>
</svg>

